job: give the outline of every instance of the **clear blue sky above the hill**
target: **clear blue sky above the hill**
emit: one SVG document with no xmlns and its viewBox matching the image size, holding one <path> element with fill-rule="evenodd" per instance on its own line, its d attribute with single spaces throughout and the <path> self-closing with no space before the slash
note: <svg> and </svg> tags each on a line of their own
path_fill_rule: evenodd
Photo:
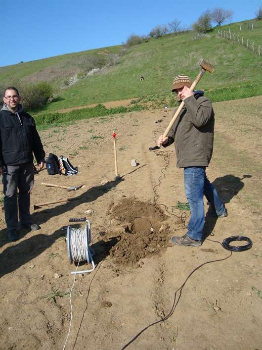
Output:
<svg viewBox="0 0 262 350">
<path fill-rule="evenodd" d="M 125 42 L 178 19 L 189 27 L 207 9 L 255 17 L 262 0 L 0 0 L 0 66 Z"/>
</svg>

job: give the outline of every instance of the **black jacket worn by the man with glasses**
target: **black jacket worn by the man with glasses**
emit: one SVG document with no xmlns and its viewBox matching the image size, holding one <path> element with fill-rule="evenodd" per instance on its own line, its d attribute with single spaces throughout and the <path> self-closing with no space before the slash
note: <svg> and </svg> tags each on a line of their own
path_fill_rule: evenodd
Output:
<svg viewBox="0 0 262 350">
<path fill-rule="evenodd" d="M 21 105 L 13 113 L 5 105 L 0 110 L 0 167 L 44 161 L 44 148 L 30 114 Z"/>
</svg>

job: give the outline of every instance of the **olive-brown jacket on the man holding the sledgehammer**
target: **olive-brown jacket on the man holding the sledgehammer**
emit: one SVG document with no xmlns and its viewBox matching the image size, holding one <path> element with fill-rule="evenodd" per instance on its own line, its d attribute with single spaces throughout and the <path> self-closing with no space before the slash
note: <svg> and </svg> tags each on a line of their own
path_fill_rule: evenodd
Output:
<svg viewBox="0 0 262 350">
<path fill-rule="evenodd" d="M 208 166 L 213 153 L 215 114 L 211 101 L 195 95 L 184 107 L 168 134 L 167 147 L 175 142 L 176 166 Z"/>
</svg>

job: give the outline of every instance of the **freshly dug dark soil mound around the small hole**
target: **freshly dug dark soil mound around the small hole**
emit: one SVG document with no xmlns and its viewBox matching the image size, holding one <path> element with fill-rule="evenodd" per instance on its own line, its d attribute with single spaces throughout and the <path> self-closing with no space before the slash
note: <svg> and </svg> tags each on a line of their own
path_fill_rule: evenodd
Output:
<svg viewBox="0 0 262 350">
<path fill-rule="evenodd" d="M 169 226 L 164 222 L 168 217 L 156 205 L 131 198 L 112 204 L 109 210 L 121 223 L 118 242 L 110 250 L 116 264 L 135 265 L 170 245 Z"/>
</svg>

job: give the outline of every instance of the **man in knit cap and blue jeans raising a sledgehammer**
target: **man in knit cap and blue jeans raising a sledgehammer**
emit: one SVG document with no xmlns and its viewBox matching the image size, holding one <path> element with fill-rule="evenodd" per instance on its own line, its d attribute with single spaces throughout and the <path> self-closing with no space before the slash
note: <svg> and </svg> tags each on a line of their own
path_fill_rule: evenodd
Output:
<svg viewBox="0 0 262 350">
<path fill-rule="evenodd" d="M 190 205 L 191 217 L 187 232 L 182 237 L 172 237 L 178 246 L 201 246 L 205 222 L 204 195 L 211 205 L 214 216 L 225 217 L 227 211 L 214 186 L 206 175 L 213 153 L 214 110 L 203 92 L 189 88 L 188 76 L 175 77 L 172 92 L 184 102 L 170 132 L 158 139 L 158 147 L 175 143 L 176 166 L 184 169 L 185 194 Z"/>
</svg>

